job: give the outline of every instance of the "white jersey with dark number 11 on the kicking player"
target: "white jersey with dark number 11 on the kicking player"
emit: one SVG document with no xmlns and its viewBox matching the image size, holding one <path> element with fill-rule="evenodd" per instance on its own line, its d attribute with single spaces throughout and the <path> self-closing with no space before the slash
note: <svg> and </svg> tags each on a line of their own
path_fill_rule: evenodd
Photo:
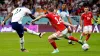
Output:
<svg viewBox="0 0 100 56">
<path fill-rule="evenodd" d="M 32 14 L 32 12 L 26 8 L 26 7 L 18 7 L 12 11 L 13 16 L 11 19 L 11 22 L 18 22 L 19 24 L 22 24 L 22 18 L 26 14 Z"/>
</svg>

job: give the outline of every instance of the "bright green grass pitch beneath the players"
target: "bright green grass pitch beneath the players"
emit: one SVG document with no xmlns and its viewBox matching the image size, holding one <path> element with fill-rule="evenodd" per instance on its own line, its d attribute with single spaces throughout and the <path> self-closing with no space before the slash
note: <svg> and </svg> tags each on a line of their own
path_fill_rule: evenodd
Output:
<svg viewBox="0 0 100 56">
<path fill-rule="evenodd" d="M 0 33 L 0 56 L 100 56 L 100 33 L 92 33 L 88 41 L 90 49 L 83 51 L 81 45 L 69 45 L 66 39 L 57 40 L 57 46 L 60 50 L 57 54 L 52 54 L 52 46 L 48 42 L 48 36 L 52 33 L 46 33 L 43 38 L 36 35 L 25 33 L 25 48 L 29 52 L 21 52 L 19 38 L 16 33 Z M 79 38 L 80 33 L 73 33 L 73 36 Z"/>
</svg>

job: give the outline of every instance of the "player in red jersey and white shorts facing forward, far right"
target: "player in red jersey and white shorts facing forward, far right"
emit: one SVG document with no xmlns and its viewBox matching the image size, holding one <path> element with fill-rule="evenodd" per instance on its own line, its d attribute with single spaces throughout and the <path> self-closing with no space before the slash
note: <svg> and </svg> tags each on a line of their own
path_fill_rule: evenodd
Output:
<svg viewBox="0 0 100 56">
<path fill-rule="evenodd" d="M 92 12 L 89 11 L 89 7 L 88 6 L 84 7 L 84 13 L 82 13 L 81 20 L 80 20 L 81 29 L 82 29 L 82 26 L 83 26 L 83 33 L 80 36 L 80 40 L 82 41 L 83 36 L 86 36 L 84 43 L 86 43 L 87 40 L 91 36 L 92 19 L 94 19 L 94 18 L 93 18 Z"/>
</svg>

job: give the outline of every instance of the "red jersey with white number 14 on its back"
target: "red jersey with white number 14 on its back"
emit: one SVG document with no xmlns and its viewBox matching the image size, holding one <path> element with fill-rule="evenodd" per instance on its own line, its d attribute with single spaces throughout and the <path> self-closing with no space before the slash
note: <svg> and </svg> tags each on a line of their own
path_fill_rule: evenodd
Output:
<svg viewBox="0 0 100 56">
<path fill-rule="evenodd" d="M 56 31 L 63 31 L 66 28 L 59 15 L 48 13 L 46 14 L 46 17 L 49 19 L 52 27 L 55 28 Z"/>
</svg>

